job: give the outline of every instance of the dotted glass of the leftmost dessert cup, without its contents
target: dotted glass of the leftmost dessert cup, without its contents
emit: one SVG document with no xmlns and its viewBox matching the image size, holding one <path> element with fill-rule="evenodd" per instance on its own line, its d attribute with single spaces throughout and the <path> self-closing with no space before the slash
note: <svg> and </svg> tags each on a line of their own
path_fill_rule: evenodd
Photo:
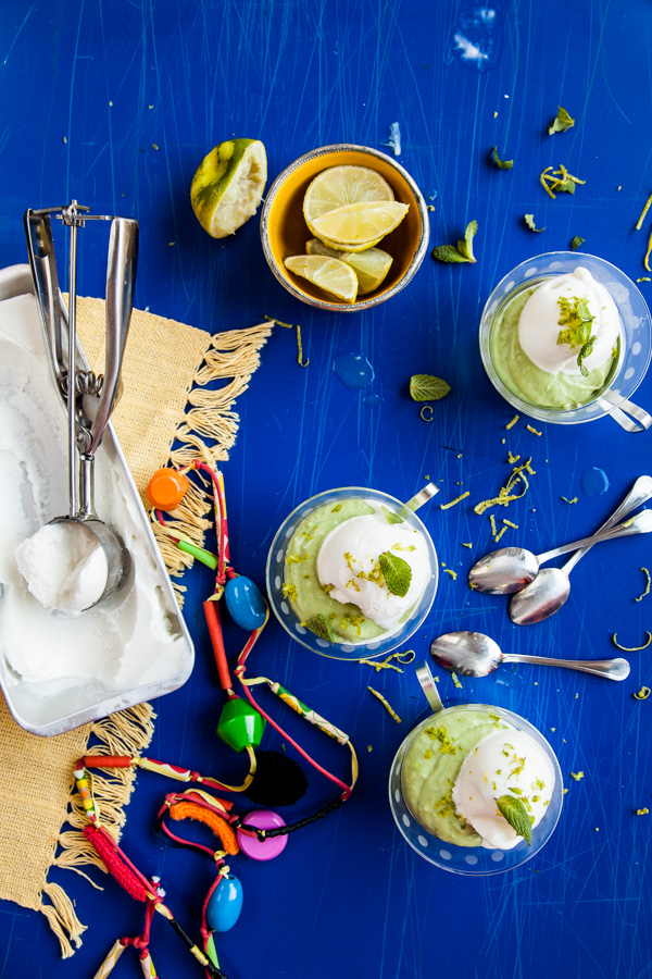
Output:
<svg viewBox="0 0 652 979">
<path fill-rule="evenodd" d="M 329 643 L 327 640 L 321 639 L 309 629 L 301 624 L 299 616 L 292 608 L 292 604 L 283 594 L 285 558 L 292 534 L 301 521 L 312 513 L 317 507 L 328 505 L 337 505 L 344 499 L 369 499 L 381 504 L 388 509 L 397 512 L 400 510 L 401 517 L 408 524 L 424 536 L 428 547 L 428 557 L 430 559 L 431 578 L 422 595 L 421 599 L 413 608 L 410 618 L 403 623 L 398 632 L 393 632 L 387 639 L 383 636 L 372 640 L 368 643 Z M 437 592 L 437 582 L 439 578 L 437 553 L 432 540 L 419 520 L 412 510 L 406 509 L 405 504 L 387 493 L 380 493 L 378 490 L 367 490 L 363 486 L 344 486 L 339 490 L 328 490 L 325 493 L 318 493 L 316 496 L 306 499 L 292 510 L 290 516 L 284 521 L 279 528 L 267 558 L 267 594 L 269 604 L 276 615 L 276 618 L 286 630 L 306 649 L 318 653 L 321 656 L 328 656 L 331 659 L 369 659 L 376 656 L 387 656 L 393 649 L 408 642 L 411 635 L 422 625 L 424 619 L 430 611 L 430 607 Z"/>
</svg>

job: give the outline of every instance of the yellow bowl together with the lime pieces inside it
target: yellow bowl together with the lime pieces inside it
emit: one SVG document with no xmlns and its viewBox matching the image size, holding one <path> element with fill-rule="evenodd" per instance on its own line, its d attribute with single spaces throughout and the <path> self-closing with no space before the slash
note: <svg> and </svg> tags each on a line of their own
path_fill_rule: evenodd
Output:
<svg viewBox="0 0 652 979">
<path fill-rule="evenodd" d="M 273 183 L 261 238 L 272 272 L 297 299 L 363 310 L 414 277 L 428 248 L 428 209 L 414 179 L 386 153 L 323 146 Z"/>
</svg>

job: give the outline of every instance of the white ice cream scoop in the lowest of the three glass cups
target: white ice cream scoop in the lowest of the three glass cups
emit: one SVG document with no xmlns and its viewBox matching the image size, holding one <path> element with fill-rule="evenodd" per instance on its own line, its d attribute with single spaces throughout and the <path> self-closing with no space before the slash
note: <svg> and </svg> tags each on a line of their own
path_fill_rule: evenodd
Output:
<svg viewBox="0 0 652 979">
<path fill-rule="evenodd" d="M 498 809 L 497 800 L 511 795 L 522 801 L 532 826 L 543 816 L 552 796 L 555 774 L 543 748 L 523 731 L 500 730 L 468 753 L 453 785 L 453 803 L 488 850 L 512 850 L 517 835 Z"/>
</svg>

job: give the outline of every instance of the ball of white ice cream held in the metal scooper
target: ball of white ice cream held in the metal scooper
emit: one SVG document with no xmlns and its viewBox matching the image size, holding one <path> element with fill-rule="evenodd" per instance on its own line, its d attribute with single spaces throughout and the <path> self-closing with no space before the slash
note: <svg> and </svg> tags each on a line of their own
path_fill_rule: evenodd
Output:
<svg viewBox="0 0 652 979">
<path fill-rule="evenodd" d="M 41 526 L 14 556 L 27 587 L 46 608 L 77 616 L 106 586 L 106 556 L 95 534 L 76 521 Z"/>
</svg>

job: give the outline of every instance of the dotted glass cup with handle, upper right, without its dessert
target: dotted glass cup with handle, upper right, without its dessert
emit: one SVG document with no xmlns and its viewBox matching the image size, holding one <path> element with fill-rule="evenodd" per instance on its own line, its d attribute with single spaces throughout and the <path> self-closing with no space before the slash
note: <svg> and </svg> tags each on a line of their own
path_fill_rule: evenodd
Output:
<svg viewBox="0 0 652 979">
<path fill-rule="evenodd" d="M 586 405 L 573 409 L 541 408 L 523 400 L 503 383 L 491 358 L 491 329 L 497 313 L 504 309 L 515 293 L 528 285 L 538 285 L 546 278 L 573 272 L 578 265 L 588 269 L 593 278 L 605 286 L 614 298 L 620 314 L 620 357 L 609 386 Z M 550 251 L 522 262 L 496 286 L 480 321 L 480 356 L 496 389 L 517 411 L 555 424 L 578 424 L 611 414 L 628 432 L 649 429 L 652 416 L 634 405 L 629 398 L 645 376 L 651 354 L 650 310 L 638 287 L 611 262 L 578 251 Z"/>
</svg>

